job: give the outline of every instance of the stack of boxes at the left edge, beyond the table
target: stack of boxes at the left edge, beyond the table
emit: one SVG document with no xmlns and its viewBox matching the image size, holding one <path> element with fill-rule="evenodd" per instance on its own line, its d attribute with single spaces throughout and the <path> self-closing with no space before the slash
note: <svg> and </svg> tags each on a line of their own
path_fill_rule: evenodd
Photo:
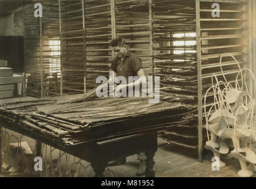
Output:
<svg viewBox="0 0 256 189">
<path fill-rule="evenodd" d="M 15 84 L 23 82 L 23 76 L 13 73 L 13 70 L 7 67 L 6 60 L 0 60 L 0 99 L 13 97 Z"/>
</svg>

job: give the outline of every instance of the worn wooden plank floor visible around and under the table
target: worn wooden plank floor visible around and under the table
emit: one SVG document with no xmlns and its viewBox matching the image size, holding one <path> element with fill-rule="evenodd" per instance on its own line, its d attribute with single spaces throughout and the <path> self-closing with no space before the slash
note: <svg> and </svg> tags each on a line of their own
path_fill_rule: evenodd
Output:
<svg viewBox="0 0 256 189">
<path fill-rule="evenodd" d="M 155 154 L 155 171 L 156 177 L 239 177 L 237 172 L 240 165 L 236 159 L 223 159 L 226 167 L 222 167 L 220 171 L 212 171 L 211 160 L 212 154 L 205 151 L 203 154 L 203 162 L 197 160 L 197 152 L 186 148 L 171 146 L 166 142 L 158 139 L 158 151 Z M 89 165 L 87 162 L 83 164 Z M 117 177 L 135 177 L 138 167 L 137 155 L 127 158 L 127 164 L 115 167 L 109 167 L 114 171 Z M 94 172 L 89 167 L 88 177 L 93 177 Z M 37 177 L 37 175 L 20 174 L 12 177 Z M 111 172 L 105 171 L 106 177 L 111 177 Z M 4 170 L 0 173 L 0 177 L 10 177 L 9 172 Z M 255 175 L 254 175 L 255 177 Z"/>
</svg>

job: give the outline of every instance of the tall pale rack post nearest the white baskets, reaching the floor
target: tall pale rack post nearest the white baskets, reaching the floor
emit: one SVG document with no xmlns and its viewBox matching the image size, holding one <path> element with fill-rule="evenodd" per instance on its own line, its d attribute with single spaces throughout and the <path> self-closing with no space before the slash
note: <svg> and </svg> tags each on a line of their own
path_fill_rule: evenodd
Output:
<svg viewBox="0 0 256 189">
<path fill-rule="evenodd" d="M 196 47 L 197 47 L 197 87 L 198 87 L 198 158 L 203 160 L 203 121 L 202 121 L 202 59 L 201 59 L 201 28 L 200 0 L 196 0 Z"/>
</svg>

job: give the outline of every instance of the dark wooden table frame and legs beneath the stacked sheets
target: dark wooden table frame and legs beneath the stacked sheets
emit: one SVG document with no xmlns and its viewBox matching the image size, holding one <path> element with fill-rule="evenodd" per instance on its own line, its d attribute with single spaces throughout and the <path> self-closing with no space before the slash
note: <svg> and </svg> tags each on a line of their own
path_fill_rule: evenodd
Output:
<svg viewBox="0 0 256 189">
<path fill-rule="evenodd" d="M 98 140 L 98 141 L 86 141 L 77 145 L 63 145 L 59 141 L 47 138 L 44 133 L 35 132 L 22 125 L 21 122 L 10 122 L 8 119 L 0 117 L 0 127 L 10 129 L 12 131 L 21 133 L 22 135 L 33 138 L 37 142 L 37 155 L 41 151 L 41 143 L 44 142 L 47 145 L 67 152 L 75 157 L 81 158 L 90 162 L 93 170 L 95 171 L 95 177 L 103 177 L 103 172 L 107 166 L 107 163 L 123 157 L 138 154 L 138 152 L 145 152 L 146 159 L 146 177 L 154 177 L 154 154 L 157 151 L 157 130 L 137 132 L 134 134 L 122 135 L 120 137 Z M 1 137 L 1 136 L 0 136 Z M 1 138 L 0 138 L 1 141 Z M 1 145 L 0 145 L 1 146 Z M 1 151 L 1 150 L 0 150 Z"/>
</svg>

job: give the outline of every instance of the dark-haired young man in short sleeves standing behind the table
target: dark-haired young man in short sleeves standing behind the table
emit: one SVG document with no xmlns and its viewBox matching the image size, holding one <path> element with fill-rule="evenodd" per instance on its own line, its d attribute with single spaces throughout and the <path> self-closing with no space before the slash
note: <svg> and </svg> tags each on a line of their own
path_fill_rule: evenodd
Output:
<svg viewBox="0 0 256 189">
<path fill-rule="evenodd" d="M 117 76 L 123 76 L 127 80 L 127 84 L 119 84 L 116 87 L 116 91 L 120 91 L 124 88 L 134 87 L 145 82 L 141 77 L 145 77 L 144 71 L 142 70 L 141 59 L 131 51 L 127 49 L 125 40 L 122 37 L 116 37 L 111 41 L 111 47 L 114 51 L 115 58 L 111 64 L 111 70 L 115 71 Z M 138 76 L 138 80 L 130 81 L 129 76 Z M 140 167 L 137 171 L 137 176 L 145 174 L 145 160 L 147 159 L 145 152 L 138 154 L 138 161 L 140 161 Z M 120 159 L 119 164 L 125 164 L 126 158 Z M 116 163 L 118 163 L 116 162 Z"/>
</svg>

